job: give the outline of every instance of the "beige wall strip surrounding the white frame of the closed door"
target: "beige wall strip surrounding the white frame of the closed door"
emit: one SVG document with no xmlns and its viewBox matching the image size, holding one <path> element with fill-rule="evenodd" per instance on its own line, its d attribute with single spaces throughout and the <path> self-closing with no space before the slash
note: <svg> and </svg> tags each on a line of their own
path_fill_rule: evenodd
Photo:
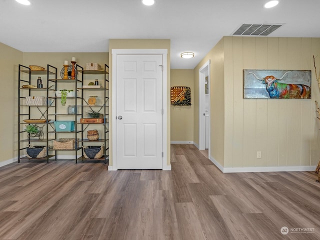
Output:
<svg viewBox="0 0 320 240">
<path fill-rule="evenodd" d="M 112 49 L 167 49 L 167 164 L 170 165 L 170 40 L 169 39 L 110 39 L 109 62 L 110 62 L 110 89 L 112 88 Z M 112 92 L 110 91 L 110 112 L 112 107 Z M 112 115 L 109 123 L 109 165 L 112 165 Z"/>
</svg>

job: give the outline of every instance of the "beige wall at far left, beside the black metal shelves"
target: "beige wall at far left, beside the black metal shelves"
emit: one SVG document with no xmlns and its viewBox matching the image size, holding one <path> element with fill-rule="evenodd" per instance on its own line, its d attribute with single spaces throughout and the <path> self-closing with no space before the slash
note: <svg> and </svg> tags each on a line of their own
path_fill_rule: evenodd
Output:
<svg viewBox="0 0 320 240">
<path fill-rule="evenodd" d="M 0 162 L 17 156 L 18 65 L 23 52 L 0 43 Z M 1 164 L 1 163 L 0 163 Z"/>
</svg>

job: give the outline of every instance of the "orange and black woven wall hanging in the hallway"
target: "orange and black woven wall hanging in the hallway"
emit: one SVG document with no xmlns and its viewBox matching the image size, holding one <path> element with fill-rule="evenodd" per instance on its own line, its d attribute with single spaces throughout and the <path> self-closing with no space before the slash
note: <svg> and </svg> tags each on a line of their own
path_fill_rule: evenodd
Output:
<svg viewBox="0 0 320 240">
<path fill-rule="evenodd" d="M 171 105 L 190 106 L 191 90 L 188 86 L 171 86 L 170 90 Z"/>
</svg>

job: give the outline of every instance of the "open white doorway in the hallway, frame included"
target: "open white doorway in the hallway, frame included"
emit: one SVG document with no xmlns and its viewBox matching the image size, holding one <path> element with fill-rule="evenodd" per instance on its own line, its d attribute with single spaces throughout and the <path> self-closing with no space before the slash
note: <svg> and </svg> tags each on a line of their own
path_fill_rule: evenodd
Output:
<svg viewBox="0 0 320 240">
<path fill-rule="evenodd" d="M 199 149 L 210 152 L 210 60 L 199 69 Z"/>
</svg>

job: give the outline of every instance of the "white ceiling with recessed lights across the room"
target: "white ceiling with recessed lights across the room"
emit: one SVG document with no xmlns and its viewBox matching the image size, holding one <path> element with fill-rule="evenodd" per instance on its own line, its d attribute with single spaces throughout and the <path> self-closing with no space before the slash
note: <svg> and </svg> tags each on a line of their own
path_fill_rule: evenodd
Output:
<svg viewBox="0 0 320 240">
<path fill-rule="evenodd" d="M 23 52 L 108 52 L 110 38 L 171 40 L 171 68 L 193 68 L 242 23 L 283 23 L 269 36 L 320 37 L 320 0 L 0 0 L 0 42 Z M 182 51 L 195 57 L 182 59 Z"/>
</svg>

